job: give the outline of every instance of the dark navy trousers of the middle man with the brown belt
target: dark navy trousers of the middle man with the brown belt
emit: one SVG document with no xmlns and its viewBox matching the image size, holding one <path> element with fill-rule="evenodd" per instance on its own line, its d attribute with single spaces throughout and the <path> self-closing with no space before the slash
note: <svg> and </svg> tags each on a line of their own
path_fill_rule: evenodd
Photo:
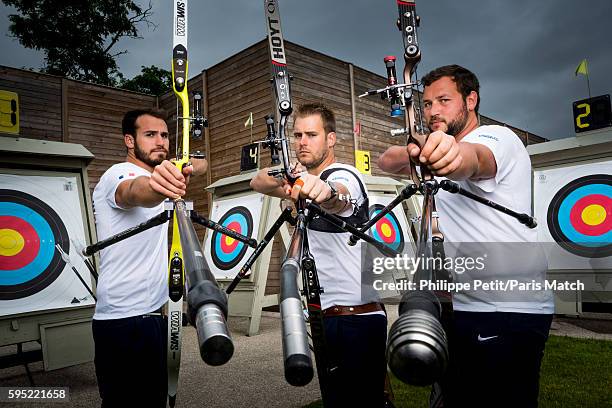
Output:
<svg viewBox="0 0 612 408">
<path fill-rule="evenodd" d="M 327 385 L 325 408 L 382 407 L 387 318 L 378 314 L 333 316 L 323 323 L 328 355 L 337 366 Z"/>
</svg>

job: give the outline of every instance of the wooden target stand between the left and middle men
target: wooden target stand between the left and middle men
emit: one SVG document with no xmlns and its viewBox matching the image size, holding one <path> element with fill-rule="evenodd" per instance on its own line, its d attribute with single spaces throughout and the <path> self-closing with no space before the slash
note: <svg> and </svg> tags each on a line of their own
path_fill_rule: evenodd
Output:
<svg viewBox="0 0 612 408">
<path fill-rule="evenodd" d="M 209 218 L 258 242 L 281 214 L 281 200 L 251 190 L 249 183 L 257 171 L 243 173 L 216 181 L 206 189 L 212 194 Z M 281 234 L 283 245 L 290 237 L 286 225 Z M 266 246 L 251 268 L 249 276 L 242 279 L 229 295 L 229 314 L 248 317 L 248 336 L 259 331 L 264 307 L 279 304 L 279 294 L 267 294 L 268 270 L 273 241 Z M 224 289 L 231 283 L 254 249 L 216 231 L 207 230 L 204 238 L 204 256 Z"/>
</svg>

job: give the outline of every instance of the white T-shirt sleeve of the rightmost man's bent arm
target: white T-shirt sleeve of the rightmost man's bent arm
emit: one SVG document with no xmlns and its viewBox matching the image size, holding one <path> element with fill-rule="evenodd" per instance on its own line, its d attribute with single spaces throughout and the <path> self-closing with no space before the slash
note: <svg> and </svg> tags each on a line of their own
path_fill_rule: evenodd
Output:
<svg viewBox="0 0 612 408">
<path fill-rule="evenodd" d="M 462 142 L 475 143 L 486 146 L 497 165 L 495 177 L 486 180 L 468 180 L 481 190 L 490 193 L 495 187 L 512 171 L 517 157 L 518 149 L 523 144 L 518 136 L 510 129 L 502 126 L 481 126 L 461 140 Z"/>
</svg>

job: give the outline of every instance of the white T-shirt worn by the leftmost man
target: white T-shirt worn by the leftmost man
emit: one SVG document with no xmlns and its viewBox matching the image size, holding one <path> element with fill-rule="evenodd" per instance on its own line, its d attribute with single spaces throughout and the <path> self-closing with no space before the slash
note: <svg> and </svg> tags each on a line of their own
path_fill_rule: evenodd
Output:
<svg viewBox="0 0 612 408">
<path fill-rule="evenodd" d="M 119 163 L 100 178 L 93 193 L 98 239 L 134 227 L 163 211 L 153 208 L 123 209 L 115 191 L 125 180 L 151 173 L 133 163 Z M 121 319 L 150 313 L 168 301 L 168 223 L 136 234 L 100 251 L 94 319 Z"/>
</svg>

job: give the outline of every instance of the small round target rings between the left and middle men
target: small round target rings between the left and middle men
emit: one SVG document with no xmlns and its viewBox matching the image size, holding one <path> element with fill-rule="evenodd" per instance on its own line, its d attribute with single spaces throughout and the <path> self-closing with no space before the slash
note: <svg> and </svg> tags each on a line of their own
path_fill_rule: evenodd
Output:
<svg viewBox="0 0 612 408">
<path fill-rule="evenodd" d="M 225 228 L 232 229 L 246 237 L 251 238 L 253 234 L 253 216 L 243 206 L 238 206 L 227 211 L 219 224 Z M 222 270 L 229 270 L 238 265 L 248 246 L 243 242 L 234 240 L 218 231 L 212 235 L 211 258 L 215 266 Z"/>
</svg>

